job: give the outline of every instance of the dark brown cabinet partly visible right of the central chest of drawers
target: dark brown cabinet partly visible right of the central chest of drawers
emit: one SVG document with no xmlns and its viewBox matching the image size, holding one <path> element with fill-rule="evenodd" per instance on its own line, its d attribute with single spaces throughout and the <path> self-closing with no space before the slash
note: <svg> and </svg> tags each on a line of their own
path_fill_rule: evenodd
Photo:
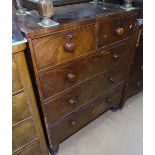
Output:
<svg viewBox="0 0 155 155">
<path fill-rule="evenodd" d="M 120 108 L 123 107 L 125 101 L 143 90 L 143 20 L 137 20 L 133 52 L 129 61 L 128 72 L 126 75 L 125 86 L 122 94 Z"/>
</svg>

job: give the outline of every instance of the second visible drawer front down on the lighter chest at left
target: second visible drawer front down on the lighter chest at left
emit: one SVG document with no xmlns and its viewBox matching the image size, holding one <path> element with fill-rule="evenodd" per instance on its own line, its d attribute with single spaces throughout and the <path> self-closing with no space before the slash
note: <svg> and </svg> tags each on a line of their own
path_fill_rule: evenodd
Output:
<svg viewBox="0 0 155 155">
<path fill-rule="evenodd" d="M 12 97 L 12 123 L 18 123 L 30 116 L 26 96 L 24 93 Z"/>
</svg>

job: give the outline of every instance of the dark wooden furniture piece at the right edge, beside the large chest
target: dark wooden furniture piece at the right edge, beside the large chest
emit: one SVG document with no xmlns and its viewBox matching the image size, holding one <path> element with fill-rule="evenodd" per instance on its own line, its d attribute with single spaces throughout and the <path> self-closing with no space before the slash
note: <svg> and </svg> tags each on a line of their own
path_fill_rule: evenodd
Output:
<svg viewBox="0 0 155 155">
<path fill-rule="evenodd" d="M 143 90 L 143 23 L 138 20 L 135 37 L 136 48 L 129 74 L 127 98 Z"/>
</svg>

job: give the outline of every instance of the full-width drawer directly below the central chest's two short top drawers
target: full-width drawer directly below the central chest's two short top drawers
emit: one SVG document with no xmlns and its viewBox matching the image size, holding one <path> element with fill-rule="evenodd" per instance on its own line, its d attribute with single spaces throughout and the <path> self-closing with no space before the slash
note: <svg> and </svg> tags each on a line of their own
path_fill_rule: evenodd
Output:
<svg viewBox="0 0 155 155">
<path fill-rule="evenodd" d="M 102 51 L 75 63 L 51 70 L 40 76 L 42 96 L 44 99 L 53 96 L 118 63 L 123 66 L 127 65 L 129 54 L 129 46 L 122 44 L 111 50 Z"/>
</svg>

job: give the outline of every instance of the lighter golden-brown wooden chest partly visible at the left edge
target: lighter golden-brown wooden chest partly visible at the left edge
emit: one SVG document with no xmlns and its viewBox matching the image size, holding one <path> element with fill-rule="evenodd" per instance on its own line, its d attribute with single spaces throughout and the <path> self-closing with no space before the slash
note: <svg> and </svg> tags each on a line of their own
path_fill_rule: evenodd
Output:
<svg viewBox="0 0 155 155">
<path fill-rule="evenodd" d="M 38 108 L 23 50 L 12 46 L 12 142 L 13 155 L 48 155 Z"/>
</svg>

